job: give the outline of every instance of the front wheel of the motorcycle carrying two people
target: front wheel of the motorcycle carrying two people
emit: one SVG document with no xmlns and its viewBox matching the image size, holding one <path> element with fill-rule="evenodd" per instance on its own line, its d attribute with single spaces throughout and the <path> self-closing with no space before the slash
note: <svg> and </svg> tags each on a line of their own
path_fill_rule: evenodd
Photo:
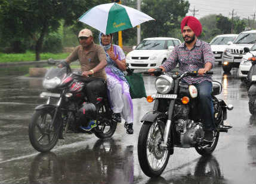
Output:
<svg viewBox="0 0 256 184">
<path fill-rule="evenodd" d="M 53 112 L 36 110 L 29 123 L 30 143 L 39 152 L 50 151 L 57 144 L 60 131 L 58 131 L 57 123 L 51 126 L 53 116 Z"/>
</svg>

